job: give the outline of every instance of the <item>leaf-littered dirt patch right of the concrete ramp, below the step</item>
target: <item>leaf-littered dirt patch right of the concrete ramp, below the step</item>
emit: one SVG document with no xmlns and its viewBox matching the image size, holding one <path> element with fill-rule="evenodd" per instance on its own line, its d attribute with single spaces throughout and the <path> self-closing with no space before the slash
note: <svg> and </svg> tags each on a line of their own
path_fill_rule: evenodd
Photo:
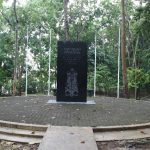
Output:
<svg viewBox="0 0 150 150">
<path fill-rule="evenodd" d="M 150 150 L 150 138 L 111 142 L 97 142 L 98 150 Z"/>
</svg>

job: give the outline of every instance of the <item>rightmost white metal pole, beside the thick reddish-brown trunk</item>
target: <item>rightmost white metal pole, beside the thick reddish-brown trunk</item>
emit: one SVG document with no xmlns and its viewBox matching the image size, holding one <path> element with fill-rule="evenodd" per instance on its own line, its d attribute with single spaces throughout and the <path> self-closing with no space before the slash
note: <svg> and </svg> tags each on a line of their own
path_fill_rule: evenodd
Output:
<svg viewBox="0 0 150 150">
<path fill-rule="evenodd" d="M 120 83 L 120 24 L 119 24 L 119 39 L 118 39 L 118 83 L 117 83 L 117 98 L 119 98 Z"/>
</svg>

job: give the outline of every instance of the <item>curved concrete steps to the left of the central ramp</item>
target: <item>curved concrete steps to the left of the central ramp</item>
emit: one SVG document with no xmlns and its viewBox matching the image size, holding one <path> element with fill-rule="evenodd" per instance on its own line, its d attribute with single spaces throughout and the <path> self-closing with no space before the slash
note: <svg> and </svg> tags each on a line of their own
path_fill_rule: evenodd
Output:
<svg viewBox="0 0 150 150">
<path fill-rule="evenodd" d="M 47 126 L 0 121 L 0 140 L 40 143 Z"/>
</svg>

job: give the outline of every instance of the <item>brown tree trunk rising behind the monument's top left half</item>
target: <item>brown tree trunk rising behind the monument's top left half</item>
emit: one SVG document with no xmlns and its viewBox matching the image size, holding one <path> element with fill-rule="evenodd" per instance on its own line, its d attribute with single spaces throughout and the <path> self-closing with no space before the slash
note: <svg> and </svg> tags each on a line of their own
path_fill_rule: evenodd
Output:
<svg viewBox="0 0 150 150">
<path fill-rule="evenodd" d="M 68 2 L 64 0 L 64 19 L 65 19 L 65 40 L 69 40 L 69 23 L 68 23 Z"/>
</svg>

